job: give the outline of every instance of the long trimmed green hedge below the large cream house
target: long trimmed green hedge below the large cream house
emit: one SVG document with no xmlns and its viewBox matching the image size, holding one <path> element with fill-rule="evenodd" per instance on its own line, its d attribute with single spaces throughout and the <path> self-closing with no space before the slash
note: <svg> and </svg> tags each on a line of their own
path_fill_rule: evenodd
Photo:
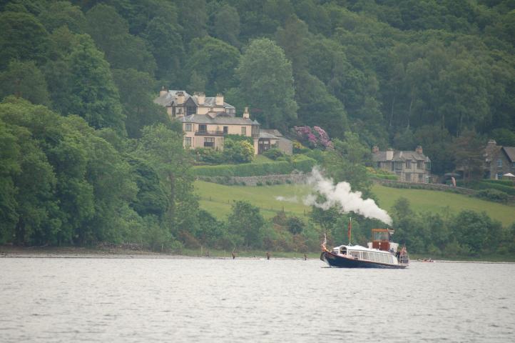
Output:
<svg viewBox="0 0 515 343">
<path fill-rule="evenodd" d="M 316 161 L 307 156 L 295 156 L 293 161 L 267 163 L 220 164 L 218 166 L 194 166 L 193 172 L 201 177 L 257 177 L 270 174 L 291 174 L 295 169 L 311 172 Z"/>
</svg>

